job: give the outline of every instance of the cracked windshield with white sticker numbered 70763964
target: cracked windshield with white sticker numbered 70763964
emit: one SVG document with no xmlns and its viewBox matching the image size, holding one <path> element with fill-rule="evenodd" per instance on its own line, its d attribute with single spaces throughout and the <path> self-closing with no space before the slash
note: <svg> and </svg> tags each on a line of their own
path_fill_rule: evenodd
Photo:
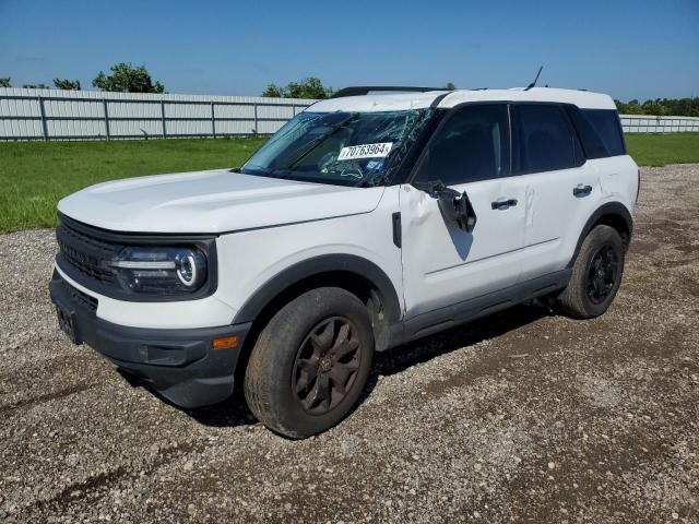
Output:
<svg viewBox="0 0 699 524">
<path fill-rule="evenodd" d="M 305 111 L 272 136 L 241 172 L 341 186 L 387 184 L 433 114 Z"/>
</svg>

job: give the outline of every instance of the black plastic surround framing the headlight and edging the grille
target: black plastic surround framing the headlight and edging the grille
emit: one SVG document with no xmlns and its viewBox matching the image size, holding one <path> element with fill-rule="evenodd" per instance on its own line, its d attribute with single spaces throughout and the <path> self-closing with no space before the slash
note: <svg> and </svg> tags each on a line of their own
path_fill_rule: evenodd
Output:
<svg viewBox="0 0 699 524">
<path fill-rule="evenodd" d="M 144 233 L 121 233 L 90 226 L 78 222 L 69 216 L 58 213 L 58 219 L 61 224 L 100 241 L 114 242 L 121 246 L 193 246 L 201 250 L 206 257 L 208 274 L 204 285 L 192 294 L 174 294 L 174 295 L 138 295 L 134 293 L 123 291 L 115 285 L 103 284 L 99 281 L 90 278 L 80 270 L 70 264 L 62 253 L 56 255 L 58 267 L 66 273 L 71 279 L 87 289 L 104 295 L 105 297 L 125 300 L 129 302 L 171 302 L 183 300 L 196 300 L 209 297 L 216 291 L 218 263 L 216 254 L 216 237 L 217 235 L 200 235 L 200 234 L 144 234 Z"/>
</svg>

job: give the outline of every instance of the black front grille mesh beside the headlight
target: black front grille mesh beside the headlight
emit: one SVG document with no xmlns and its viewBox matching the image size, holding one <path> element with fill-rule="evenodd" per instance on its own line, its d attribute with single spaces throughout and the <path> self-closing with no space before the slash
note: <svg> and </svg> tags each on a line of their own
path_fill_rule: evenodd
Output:
<svg viewBox="0 0 699 524">
<path fill-rule="evenodd" d="M 79 231 L 67 223 L 58 226 L 56 239 L 63 259 L 78 272 L 104 284 L 114 282 L 114 273 L 105 263 L 121 251 L 121 245 Z"/>
</svg>

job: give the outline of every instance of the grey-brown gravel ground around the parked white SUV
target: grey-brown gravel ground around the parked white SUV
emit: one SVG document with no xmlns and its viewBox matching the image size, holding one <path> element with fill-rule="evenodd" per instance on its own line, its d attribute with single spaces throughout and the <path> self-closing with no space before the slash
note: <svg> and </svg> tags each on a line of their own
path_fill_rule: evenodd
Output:
<svg viewBox="0 0 699 524">
<path fill-rule="evenodd" d="M 643 170 L 602 318 L 522 307 L 382 354 L 353 416 L 300 442 L 71 346 L 52 231 L 0 236 L 0 521 L 699 522 L 698 182 Z"/>
</svg>

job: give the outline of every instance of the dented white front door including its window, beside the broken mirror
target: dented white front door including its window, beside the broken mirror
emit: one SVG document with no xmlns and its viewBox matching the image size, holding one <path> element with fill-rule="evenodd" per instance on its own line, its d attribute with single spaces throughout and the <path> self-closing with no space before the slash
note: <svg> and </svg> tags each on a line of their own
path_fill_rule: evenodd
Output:
<svg viewBox="0 0 699 524">
<path fill-rule="evenodd" d="M 416 189 L 428 181 L 466 192 L 477 216 L 472 233 L 446 218 L 434 195 Z M 517 283 L 525 186 L 510 176 L 507 104 L 454 109 L 430 141 L 413 183 L 400 196 L 407 318 Z"/>
</svg>

